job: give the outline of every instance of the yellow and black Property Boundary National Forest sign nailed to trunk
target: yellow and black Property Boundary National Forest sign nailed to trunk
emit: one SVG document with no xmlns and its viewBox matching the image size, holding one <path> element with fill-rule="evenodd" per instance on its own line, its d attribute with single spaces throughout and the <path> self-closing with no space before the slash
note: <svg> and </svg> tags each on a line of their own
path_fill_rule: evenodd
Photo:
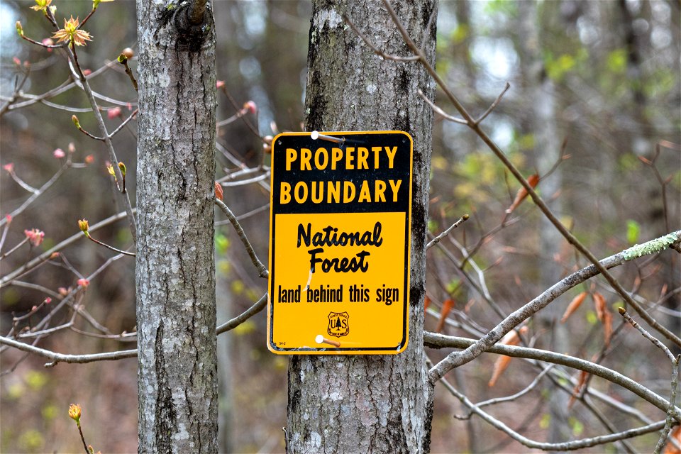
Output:
<svg viewBox="0 0 681 454">
<path fill-rule="evenodd" d="M 396 354 L 409 341 L 411 136 L 272 140 L 267 348 Z"/>
</svg>

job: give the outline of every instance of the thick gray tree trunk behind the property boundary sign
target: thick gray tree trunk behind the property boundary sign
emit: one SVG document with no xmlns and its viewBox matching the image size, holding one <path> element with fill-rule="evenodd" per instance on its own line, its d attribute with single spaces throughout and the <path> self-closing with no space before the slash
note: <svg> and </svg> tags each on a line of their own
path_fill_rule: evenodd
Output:
<svg viewBox="0 0 681 454">
<path fill-rule="evenodd" d="M 416 43 L 435 55 L 434 0 L 394 1 Z M 411 55 L 381 1 L 314 1 L 306 89 L 307 131 L 406 131 L 414 138 L 409 346 L 399 355 L 294 356 L 289 362 L 290 453 L 422 453 L 432 407 L 423 354 L 428 172 L 433 114 L 417 94 L 434 82 L 416 62 L 377 57 L 346 15 L 385 52 Z M 425 33 L 425 36 L 424 36 Z"/>
</svg>

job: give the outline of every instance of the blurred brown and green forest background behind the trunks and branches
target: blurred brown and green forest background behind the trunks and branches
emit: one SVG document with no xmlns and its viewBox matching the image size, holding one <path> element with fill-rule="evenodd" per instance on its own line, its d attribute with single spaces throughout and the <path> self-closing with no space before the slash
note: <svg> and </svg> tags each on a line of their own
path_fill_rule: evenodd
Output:
<svg viewBox="0 0 681 454">
<path fill-rule="evenodd" d="M 52 28 L 33 1 L 2 0 L 1 95 L 5 105 L 13 94 L 23 62 L 30 62 L 25 94 L 42 94 L 69 77 L 60 52 L 21 40 L 15 31 L 20 20 L 26 35 L 48 38 Z M 92 1 L 55 0 L 57 19 L 72 14 L 84 18 Z M 119 0 L 102 4 L 85 29 L 92 43 L 79 48 L 82 67 L 93 72 L 116 60 L 123 48 L 135 50 L 135 4 Z M 437 71 L 467 108 L 482 114 L 509 82 L 511 88 L 482 123 L 494 141 L 524 175 L 542 176 L 538 185 L 554 213 L 598 258 L 656 238 L 681 227 L 681 24 L 675 0 L 556 0 L 556 1 L 441 1 L 438 15 Z M 263 152 L 265 135 L 299 131 L 303 118 L 309 1 L 214 1 L 217 26 L 218 121 L 233 116 L 247 101 L 257 112 L 218 131 L 216 179 L 223 184 L 224 201 L 239 216 L 261 258 L 267 257 L 269 156 Z M 352 33 L 348 29 L 348 33 Z M 339 63 L 341 64 L 341 63 Z M 389 62 L 386 64 L 390 64 Z M 135 58 L 131 67 L 136 71 Z M 110 130 L 135 109 L 136 95 L 121 65 L 90 79 L 105 96 L 105 121 Z M 14 216 L 2 252 L 25 238 L 24 230 L 45 232 L 43 242 L 22 248 L 0 262 L 6 277 L 30 258 L 79 233 L 77 221 L 92 226 L 123 211 L 106 170 L 104 145 L 79 133 L 71 121 L 76 114 L 84 129 L 97 131 L 82 91 L 71 89 L 45 102 L 27 95 L 4 112 L 0 123 L 1 208 L 5 216 L 31 196 L 8 171 L 31 187 L 41 187 L 65 164 L 55 150 L 74 152 L 72 165 L 48 191 Z M 23 102 L 23 105 L 21 104 Z M 445 96 L 436 100 L 453 112 Z M 50 103 L 50 104 L 48 104 Z M 67 107 L 67 109 L 64 108 Z M 121 109 L 120 115 L 116 108 Z M 80 111 L 84 109 L 84 111 Z M 118 159 L 128 167 L 127 185 L 135 188 L 135 121 L 114 138 Z M 479 337 L 500 320 L 489 301 L 504 313 L 518 308 L 557 282 L 575 266 L 587 263 L 566 245 L 543 220 L 531 201 L 511 215 L 519 185 L 471 131 L 443 121 L 436 114 L 433 131 L 430 229 L 437 234 L 463 214 L 470 220 L 428 252 L 426 291 L 431 299 L 426 329 L 434 331 L 444 301 L 454 302 L 441 330 Z M 70 145 L 72 144 L 72 145 Z M 235 175 L 243 166 L 255 169 Z M 264 165 L 264 167 L 260 167 Z M 248 184 L 244 179 L 253 179 Z M 218 323 L 240 314 L 266 290 L 233 228 L 216 213 L 216 269 Z M 6 228 L 3 221 L 2 230 Z M 123 250 L 133 248 L 125 220 L 96 231 L 93 236 Z M 461 265 L 462 251 L 475 255 Z M 84 236 L 60 250 L 32 272 L 0 289 L 0 331 L 13 327 L 13 316 L 31 311 L 45 297 L 60 299 L 59 287 L 76 288 L 92 319 L 111 334 L 135 330 L 133 259 L 106 263 L 115 253 Z M 106 264 L 106 267 L 101 268 Z M 98 274 L 91 276 L 96 270 Z M 681 315 L 681 275 L 675 253 L 614 270 L 621 284 L 650 309 L 660 323 L 678 333 Z M 596 287 L 594 286 L 594 283 Z M 477 290 L 476 287 L 477 286 Z M 482 288 L 482 290 L 480 290 Z M 48 293 L 45 289 L 50 289 Z M 557 323 L 567 302 L 582 291 L 604 295 L 609 307 L 621 304 L 603 280 L 592 279 L 554 301 L 530 324 L 528 339 L 538 348 L 555 349 L 591 360 L 605 353 L 602 364 L 628 375 L 663 397 L 669 393 L 668 362 L 660 350 L 638 333 L 617 328 L 616 316 L 609 348 L 593 306 L 585 304 L 566 323 Z M 485 297 L 481 297 L 484 294 Z M 661 304 L 660 304 L 661 302 Z M 31 326 L 50 310 L 45 305 L 18 328 Z M 51 326 L 70 320 L 62 311 Z M 614 311 L 616 314 L 616 310 Z M 265 314 L 218 337 L 220 375 L 221 450 L 226 452 L 282 452 L 286 425 L 287 358 L 268 353 Z M 72 328 L 97 331 L 85 317 Z M 32 342 L 35 339 L 24 338 Z M 134 348 L 134 337 L 112 340 L 87 336 L 73 329 L 40 339 L 38 346 L 60 353 L 96 353 Z M 445 352 L 432 350 L 433 360 Z M 482 355 L 459 367 L 448 378 L 474 402 L 506 396 L 526 387 L 538 370 L 513 360 L 494 387 L 489 387 L 494 355 Z M 3 348 L 0 378 L 0 450 L 4 453 L 77 452 L 82 450 L 77 429 L 68 418 L 70 403 L 83 408 L 84 434 L 104 453 L 137 450 L 137 362 L 60 363 L 45 369 L 44 358 Z M 569 392 L 577 372 L 565 370 Z M 569 394 L 548 387 L 548 379 L 523 399 L 494 409 L 513 428 L 537 440 L 567 440 L 594 436 L 603 427 L 580 403 L 567 408 Z M 556 379 L 558 380 L 558 379 Z M 559 380 L 559 381 L 560 381 Z M 604 380 L 590 387 L 632 405 L 652 419 L 659 410 Z M 459 421 L 466 411 L 441 387 L 433 419 L 434 453 L 528 452 L 504 433 L 480 419 Z M 558 403 L 556 403 L 558 399 Z M 559 410 L 556 411 L 556 408 Z M 562 408 L 562 410 L 560 410 Z M 613 412 L 605 407 L 605 413 Z M 653 416 L 654 415 L 654 416 Z M 620 430 L 633 416 L 619 412 L 611 422 Z M 655 433 L 631 441 L 636 450 L 650 451 Z M 611 452 L 607 445 L 583 452 Z"/>
</svg>

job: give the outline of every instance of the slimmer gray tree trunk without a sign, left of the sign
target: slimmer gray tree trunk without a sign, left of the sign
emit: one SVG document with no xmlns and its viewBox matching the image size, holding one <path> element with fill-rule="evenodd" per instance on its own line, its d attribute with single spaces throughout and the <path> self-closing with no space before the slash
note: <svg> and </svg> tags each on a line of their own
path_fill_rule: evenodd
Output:
<svg viewBox="0 0 681 454">
<path fill-rule="evenodd" d="M 214 23 L 191 6 L 137 9 L 140 453 L 217 452 Z"/>
</svg>

